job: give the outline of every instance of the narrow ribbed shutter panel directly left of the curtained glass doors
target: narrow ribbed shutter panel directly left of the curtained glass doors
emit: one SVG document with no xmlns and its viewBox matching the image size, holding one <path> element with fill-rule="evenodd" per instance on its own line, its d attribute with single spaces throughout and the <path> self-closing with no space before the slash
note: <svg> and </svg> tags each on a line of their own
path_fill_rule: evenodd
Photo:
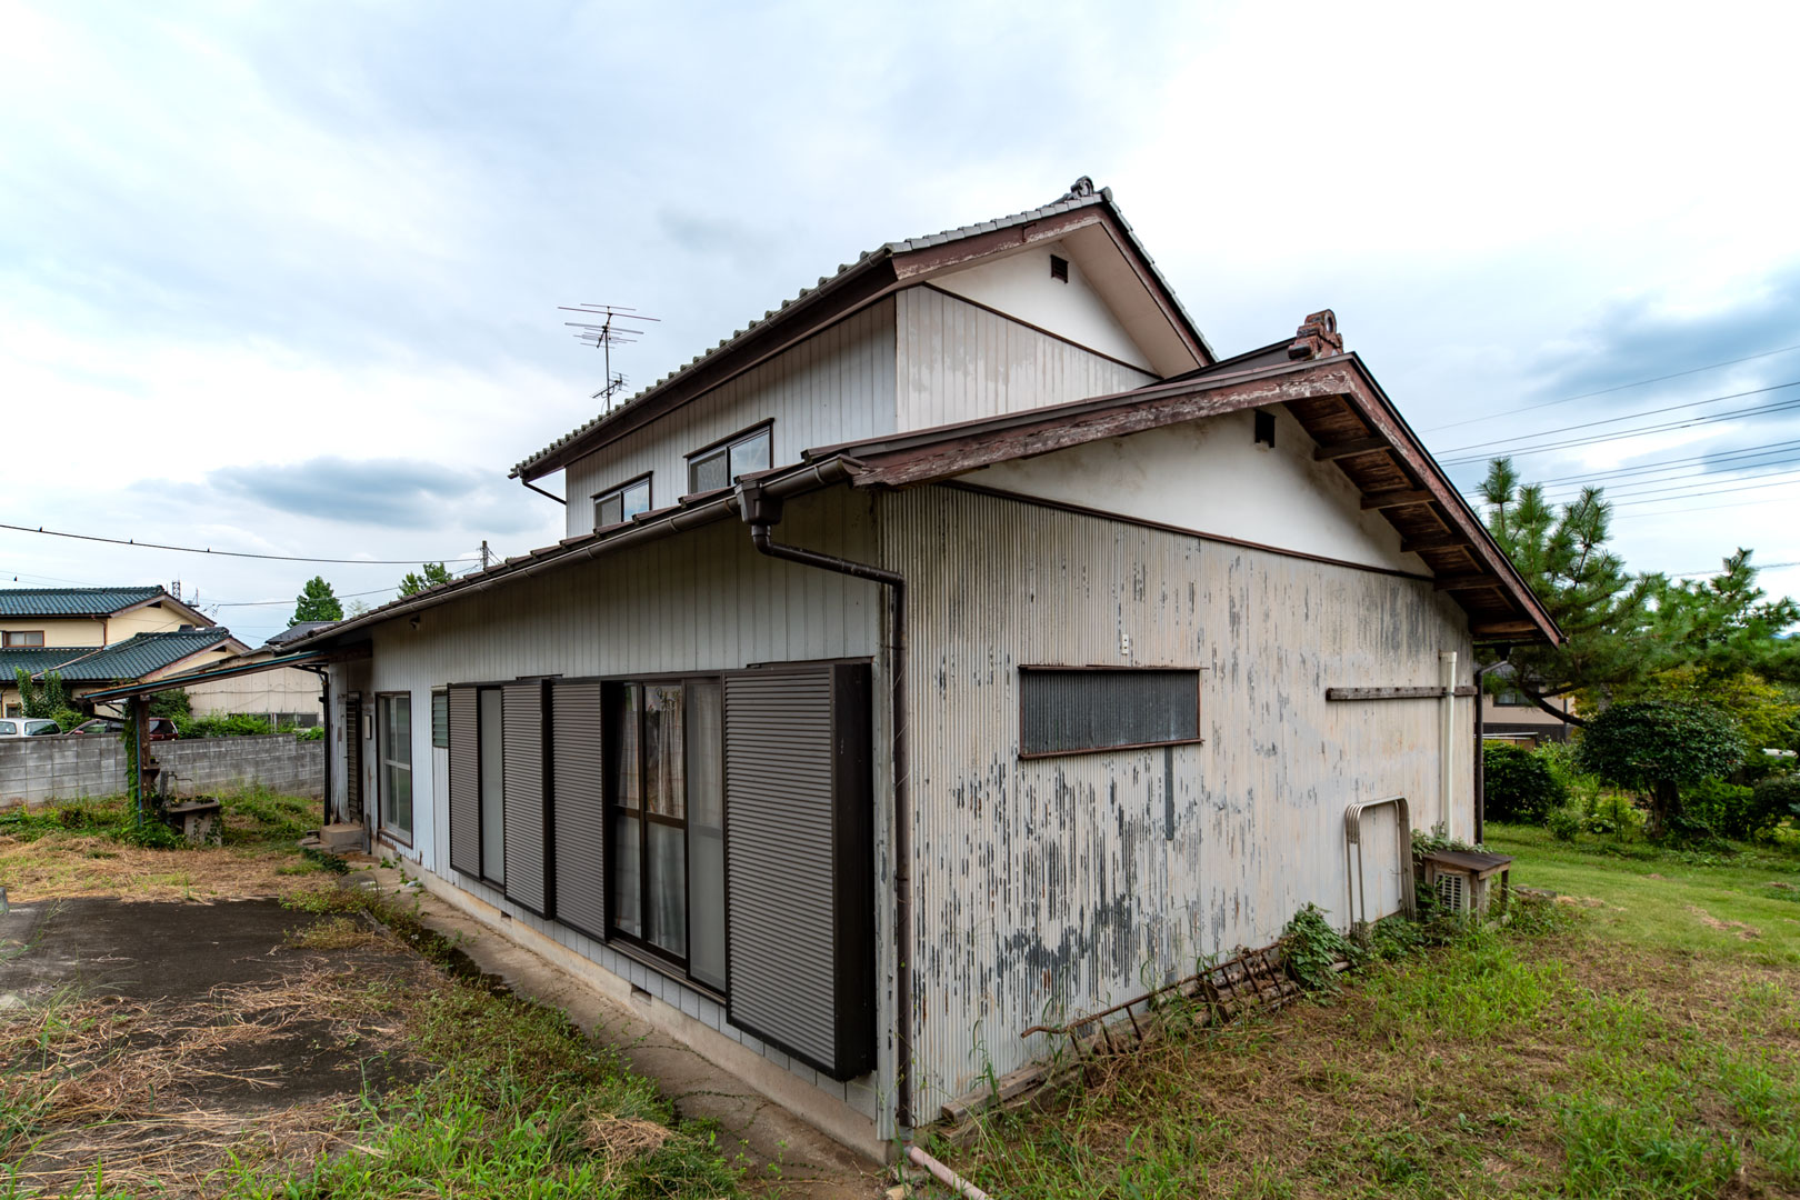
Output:
<svg viewBox="0 0 1800 1200">
<path fill-rule="evenodd" d="M 589 937 L 607 930 L 603 732 L 599 684 L 551 685 L 556 919 Z"/>
</svg>

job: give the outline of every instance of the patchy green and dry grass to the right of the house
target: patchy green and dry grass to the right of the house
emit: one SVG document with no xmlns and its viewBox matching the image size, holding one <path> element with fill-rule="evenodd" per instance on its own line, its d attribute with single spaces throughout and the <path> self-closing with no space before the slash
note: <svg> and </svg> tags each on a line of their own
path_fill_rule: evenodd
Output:
<svg viewBox="0 0 1800 1200">
<path fill-rule="evenodd" d="M 1543 865 L 1521 853 L 1516 880 Z M 1584 862 L 1584 896 L 1631 874 Z M 1759 883 L 1692 869 L 1724 873 L 1696 887 Z M 940 1150 L 1008 1200 L 1800 1193 L 1795 973 L 1741 941 L 1640 936 L 1604 909 L 1521 912 L 1507 930 L 1400 945 L 1341 993 L 1273 1015 L 1168 1022 L 1040 1110 Z"/>
</svg>

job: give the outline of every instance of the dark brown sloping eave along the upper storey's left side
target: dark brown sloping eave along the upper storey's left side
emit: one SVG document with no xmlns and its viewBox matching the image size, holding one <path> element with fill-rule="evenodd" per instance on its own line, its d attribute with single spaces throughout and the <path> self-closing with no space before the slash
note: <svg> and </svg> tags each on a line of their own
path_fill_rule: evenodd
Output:
<svg viewBox="0 0 1800 1200">
<path fill-rule="evenodd" d="M 774 317 L 765 317 L 761 324 L 747 329 L 743 336 L 715 347 L 695 363 L 677 369 L 661 385 L 608 414 L 587 432 L 574 434 L 565 444 L 526 459 L 508 473 L 508 479 L 529 482 L 560 471 L 576 459 L 585 459 L 626 434 L 641 430 L 666 412 L 724 387 L 799 342 L 824 333 L 828 327 L 853 317 L 896 290 L 893 259 L 886 252 L 875 252 L 864 261 L 851 264 L 841 275 L 819 284 L 785 309 L 778 309 Z"/>
</svg>

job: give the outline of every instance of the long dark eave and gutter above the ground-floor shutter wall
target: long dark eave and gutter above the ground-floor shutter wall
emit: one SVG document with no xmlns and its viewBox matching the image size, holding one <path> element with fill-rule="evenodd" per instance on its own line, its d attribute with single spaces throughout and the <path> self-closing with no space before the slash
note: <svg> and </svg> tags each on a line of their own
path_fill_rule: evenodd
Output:
<svg viewBox="0 0 1800 1200">
<path fill-rule="evenodd" d="M 769 495 L 790 500 L 794 497 L 801 497 L 810 491 L 823 491 L 824 488 L 848 480 L 850 464 L 839 459 L 801 462 L 797 466 L 758 471 L 754 475 L 745 475 L 743 479 L 760 482 L 763 491 Z M 554 570 L 556 567 L 569 563 L 581 563 L 601 554 L 612 554 L 614 551 L 644 545 L 646 542 L 661 542 L 662 538 L 670 538 L 700 525 L 711 525 L 736 515 L 736 491 L 711 491 L 704 495 L 709 498 L 686 506 L 671 506 L 662 509 L 662 516 L 619 527 L 603 536 L 583 534 L 578 538 L 565 538 L 556 547 L 509 558 L 504 563 L 497 563 L 488 570 L 482 570 L 481 574 L 466 576 L 464 579 L 443 583 L 416 596 L 391 601 L 380 608 L 365 612 L 360 617 L 340 621 L 329 630 L 320 630 L 310 637 L 297 639 L 292 644 L 295 648 L 308 649 L 324 648 L 347 633 L 367 630 L 382 624 L 383 621 L 394 621 L 427 608 L 437 608 L 439 604 L 486 592 L 497 585 L 515 583 L 517 579 L 535 576 L 542 570 Z"/>
</svg>

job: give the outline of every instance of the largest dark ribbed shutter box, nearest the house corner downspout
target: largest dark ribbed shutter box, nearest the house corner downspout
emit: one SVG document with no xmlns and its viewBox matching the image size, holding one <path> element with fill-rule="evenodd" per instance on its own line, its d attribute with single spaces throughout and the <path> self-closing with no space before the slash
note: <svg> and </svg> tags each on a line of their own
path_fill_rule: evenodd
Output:
<svg viewBox="0 0 1800 1200">
<path fill-rule="evenodd" d="M 833 1079 L 875 1058 L 868 667 L 725 680 L 731 1024 Z"/>
</svg>

